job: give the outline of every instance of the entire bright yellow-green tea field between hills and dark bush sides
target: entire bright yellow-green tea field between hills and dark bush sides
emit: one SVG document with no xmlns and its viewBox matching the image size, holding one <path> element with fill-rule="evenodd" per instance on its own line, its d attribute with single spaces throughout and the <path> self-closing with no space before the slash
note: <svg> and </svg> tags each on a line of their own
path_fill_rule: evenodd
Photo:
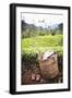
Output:
<svg viewBox="0 0 72 98">
<path fill-rule="evenodd" d="M 62 53 L 63 35 L 45 35 L 21 40 L 21 51 L 23 53 L 39 53 L 45 51 L 56 51 Z"/>
</svg>

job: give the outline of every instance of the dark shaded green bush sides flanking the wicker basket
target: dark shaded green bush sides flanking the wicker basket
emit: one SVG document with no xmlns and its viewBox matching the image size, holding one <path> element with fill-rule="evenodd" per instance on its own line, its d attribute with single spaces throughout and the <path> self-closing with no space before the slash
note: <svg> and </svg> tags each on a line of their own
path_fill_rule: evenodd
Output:
<svg viewBox="0 0 72 98">
<path fill-rule="evenodd" d="M 62 62 L 63 53 L 58 51 L 58 61 Z M 38 53 L 36 52 L 24 52 L 22 54 L 22 62 L 24 65 L 38 64 Z"/>
</svg>

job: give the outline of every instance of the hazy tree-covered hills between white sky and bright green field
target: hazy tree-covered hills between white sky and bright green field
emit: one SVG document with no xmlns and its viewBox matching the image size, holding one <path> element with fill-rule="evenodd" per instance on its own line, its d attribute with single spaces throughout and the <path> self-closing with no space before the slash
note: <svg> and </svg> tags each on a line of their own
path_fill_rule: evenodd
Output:
<svg viewBox="0 0 72 98">
<path fill-rule="evenodd" d="M 36 26 L 34 24 L 28 24 L 25 21 L 21 22 L 22 24 L 22 36 L 32 37 L 32 36 L 44 36 L 49 34 L 63 34 L 63 23 L 53 24 L 48 27 Z"/>
</svg>

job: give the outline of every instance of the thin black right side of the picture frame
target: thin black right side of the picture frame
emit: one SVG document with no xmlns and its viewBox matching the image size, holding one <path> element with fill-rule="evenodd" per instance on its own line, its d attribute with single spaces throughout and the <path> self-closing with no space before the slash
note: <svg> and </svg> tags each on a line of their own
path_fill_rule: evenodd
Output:
<svg viewBox="0 0 72 98">
<path fill-rule="evenodd" d="M 70 21 L 71 21 L 71 8 L 69 8 L 68 9 L 69 10 L 69 16 L 68 16 L 68 20 L 69 20 L 69 22 L 68 22 L 68 32 L 69 32 L 69 38 L 68 38 L 68 49 L 69 49 L 69 51 L 68 51 L 68 56 L 69 56 L 69 58 L 68 58 L 68 64 L 69 64 L 69 84 L 68 84 L 68 86 L 69 86 L 69 90 L 71 90 L 71 23 L 70 23 Z"/>
</svg>

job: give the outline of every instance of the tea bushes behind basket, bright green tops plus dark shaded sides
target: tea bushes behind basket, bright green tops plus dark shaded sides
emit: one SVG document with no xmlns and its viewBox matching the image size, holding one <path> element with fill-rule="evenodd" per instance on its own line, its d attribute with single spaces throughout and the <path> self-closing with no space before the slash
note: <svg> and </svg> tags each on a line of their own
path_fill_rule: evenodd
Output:
<svg viewBox="0 0 72 98">
<path fill-rule="evenodd" d="M 22 65 L 38 64 L 38 56 L 45 51 L 57 52 L 59 64 L 61 64 L 63 57 L 62 41 L 63 35 L 38 36 L 22 39 Z"/>
</svg>

